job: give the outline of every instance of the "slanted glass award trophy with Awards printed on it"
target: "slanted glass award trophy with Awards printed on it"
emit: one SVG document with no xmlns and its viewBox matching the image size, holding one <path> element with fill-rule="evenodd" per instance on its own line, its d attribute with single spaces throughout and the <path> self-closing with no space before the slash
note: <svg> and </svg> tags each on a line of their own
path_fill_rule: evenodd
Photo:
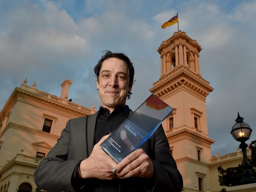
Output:
<svg viewBox="0 0 256 192">
<path fill-rule="evenodd" d="M 100 146 L 119 163 L 150 138 L 172 112 L 172 107 L 151 94 Z"/>
</svg>

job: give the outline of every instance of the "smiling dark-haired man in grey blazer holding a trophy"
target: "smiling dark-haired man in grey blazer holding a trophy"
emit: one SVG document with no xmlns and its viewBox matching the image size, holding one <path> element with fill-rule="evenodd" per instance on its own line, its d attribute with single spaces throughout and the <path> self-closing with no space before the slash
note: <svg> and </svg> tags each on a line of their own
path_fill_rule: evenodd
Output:
<svg viewBox="0 0 256 192">
<path fill-rule="evenodd" d="M 126 98 L 132 94 L 134 67 L 126 55 L 107 51 L 94 70 L 102 107 L 67 122 L 35 171 L 37 186 L 47 191 L 180 192 L 182 177 L 163 127 L 119 164 L 100 148 L 132 113 Z"/>
</svg>

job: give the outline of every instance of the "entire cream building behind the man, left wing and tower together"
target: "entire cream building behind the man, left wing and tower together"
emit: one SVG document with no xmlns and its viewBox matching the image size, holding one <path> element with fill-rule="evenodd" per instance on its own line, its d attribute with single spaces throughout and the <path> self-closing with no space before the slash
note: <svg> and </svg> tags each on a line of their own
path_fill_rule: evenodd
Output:
<svg viewBox="0 0 256 192">
<path fill-rule="evenodd" d="M 214 140 L 208 135 L 206 96 L 213 88 L 200 73 L 201 50 L 182 31 L 163 41 L 158 48 L 160 79 L 150 91 L 174 107 L 163 127 L 184 179 L 183 191 L 218 192 L 223 186 L 218 182 L 217 167 L 237 166 L 243 155 L 238 148 L 235 153 L 211 158 Z M 0 112 L 0 192 L 40 191 L 33 172 L 56 144 L 66 122 L 96 112 L 95 107 L 68 101 L 69 79 L 61 84 L 60 97 L 26 83 L 25 79 L 14 89 Z"/>
</svg>

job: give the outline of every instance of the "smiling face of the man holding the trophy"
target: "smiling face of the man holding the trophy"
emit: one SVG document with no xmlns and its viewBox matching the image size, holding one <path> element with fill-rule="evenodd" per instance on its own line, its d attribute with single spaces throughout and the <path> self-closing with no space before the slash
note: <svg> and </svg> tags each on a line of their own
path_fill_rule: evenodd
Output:
<svg viewBox="0 0 256 192">
<path fill-rule="evenodd" d="M 132 90 L 129 82 L 129 70 L 124 61 L 115 57 L 103 61 L 97 79 L 102 107 L 113 109 L 117 105 L 125 105 L 128 91 Z"/>
</svg>

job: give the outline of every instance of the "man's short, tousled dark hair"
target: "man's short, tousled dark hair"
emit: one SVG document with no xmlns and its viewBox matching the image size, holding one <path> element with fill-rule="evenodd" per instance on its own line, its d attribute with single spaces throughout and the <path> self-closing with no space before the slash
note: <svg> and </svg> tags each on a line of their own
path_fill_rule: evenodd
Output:
<svg viewBox="0 0 256 192">
<path fill-rule="evenodd" d="M 95 65 L 94 67 L 94 73 L 96 75 L 96 77 L 98 78 L 100 75 L 100 69 L 102 66 L 103 61 L 105 61 L 106 59 L 109 59 L 111 57 L 115 57 L 117 59 L 121 59 L 122 61 L 124 61 L 124 63 L 126 63 L 128 70 L 129 70 L 129 87 L 131 87 L 134 83 L 134 66 L 132 61 L 123 53 L 112 53 L 109 50 L 105 50 L 103 51 L 103 54 L 100 58 L 100 60 L 98 61 L 98 64 Z M 130 99 L 132 92 L 128 91 L 128 95 L 127 98 Z"/>
</svg>

